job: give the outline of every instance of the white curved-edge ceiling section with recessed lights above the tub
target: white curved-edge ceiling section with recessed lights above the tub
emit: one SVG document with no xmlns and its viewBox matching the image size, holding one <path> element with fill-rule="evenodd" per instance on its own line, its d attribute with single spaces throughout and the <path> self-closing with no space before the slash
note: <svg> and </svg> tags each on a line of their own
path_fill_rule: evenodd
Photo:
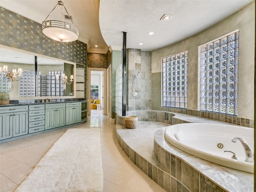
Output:
<svg viewBox="0 0 256 192">
<path fill-rule="evenodd" d="M 128 48 L 151 51 L 193 36 L 252 1 L 100 0 L 100 30 L 108 45 L 122 46 L 122 32 L 127 32 Z M 174 17 L 162 21 L 164 14 Z"/>
</svg>

